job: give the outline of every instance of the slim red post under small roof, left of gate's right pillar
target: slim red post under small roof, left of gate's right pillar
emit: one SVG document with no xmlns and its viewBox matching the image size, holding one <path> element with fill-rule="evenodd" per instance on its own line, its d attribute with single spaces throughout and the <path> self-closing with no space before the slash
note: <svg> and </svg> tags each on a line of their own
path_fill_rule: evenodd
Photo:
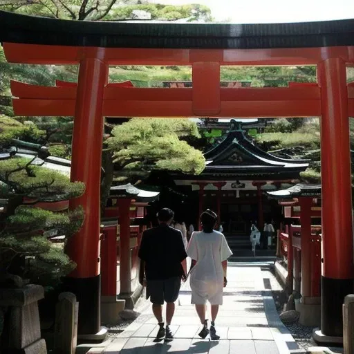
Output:
<svg viewBox="0 0 354 354">
<path fill-rule="evenodd" d="M 299 198 L 301 224 L 301 295 L 311 297 L 311 206 L 312 198 Z"/>
</svg>

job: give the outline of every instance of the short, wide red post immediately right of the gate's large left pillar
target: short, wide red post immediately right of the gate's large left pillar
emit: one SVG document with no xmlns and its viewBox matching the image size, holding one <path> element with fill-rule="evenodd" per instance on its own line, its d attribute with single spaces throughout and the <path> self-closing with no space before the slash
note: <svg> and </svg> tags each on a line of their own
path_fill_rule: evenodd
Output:
<svg viewBox="0 0 354 354">
<path fill-rule="evenodd" d="M 102 296 L 117 296 L 117 225 L 104 227 L 101 241 Z"/>
</svg>

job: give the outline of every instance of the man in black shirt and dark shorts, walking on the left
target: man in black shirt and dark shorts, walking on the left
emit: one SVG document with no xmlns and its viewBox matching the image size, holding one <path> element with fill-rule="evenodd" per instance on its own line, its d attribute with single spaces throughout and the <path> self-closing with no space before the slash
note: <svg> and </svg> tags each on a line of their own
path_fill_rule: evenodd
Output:
<svg viewBox="0 0 354 354">
<path fill-rule="evenodd" d="M 187 258 L 182 233 L 170 227 L 174 218 L 171 209 L 158 212 L 158 227 L 145 230 L 138 253 L 141 260 L 140 283 L 147 286 L 153 315 L 160 326 L 157 338 L 172 338 L 169 328 L 174 316 L 174 301 L 178 298 L 180 281 L 185 278 L 183 263 Z M 166 330 L 162 321 L 162 305 L 166 301 Z"/>
</svg>

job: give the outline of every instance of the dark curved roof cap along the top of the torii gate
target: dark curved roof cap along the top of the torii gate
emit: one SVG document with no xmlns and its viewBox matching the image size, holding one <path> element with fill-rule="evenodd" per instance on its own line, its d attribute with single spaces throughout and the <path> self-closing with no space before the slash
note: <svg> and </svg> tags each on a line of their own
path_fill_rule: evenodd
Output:
<svg viewBox="0 0 354 354">
<path fill-rule="evenodd" d="M 70 21 L 0 11 L 0 41 L 106 48 L 310 48 L 354 45 L 354 19 L 289 24 Z"/>
</svg>

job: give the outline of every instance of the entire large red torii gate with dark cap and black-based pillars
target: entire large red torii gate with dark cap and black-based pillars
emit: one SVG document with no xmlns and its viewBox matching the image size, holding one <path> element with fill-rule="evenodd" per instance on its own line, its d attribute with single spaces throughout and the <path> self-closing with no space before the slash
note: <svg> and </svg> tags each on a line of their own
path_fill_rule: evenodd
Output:
<svg viewBox="0 0 354 354">
<path fill-rule="evenodd" d="M 117 24 L 27 17 L 0 11 L 8 62 L 80 64 L 77 87 L 12 83 L 21 115 L 74 115 L 71 180 L 85 183 L 70 203 L 86 212 L 66 251 L 77 263 L 66 279 L 80 301 L 79 333 L 100 330 L 100 167 L 103 117 L 321 116 L 322 333 L 342 335 L 342 304 L 353 292 L 353 227 L 348 116 L 353 91 L 354 20 L 306 24 Z M 192 88 L 108 83 L 109 65 L 192 66 Z M 221 88 L 223 65 L 315 65 L 318 85 Z M 127 263 L 121 259 L 122 266 Z"/>
</svg>

